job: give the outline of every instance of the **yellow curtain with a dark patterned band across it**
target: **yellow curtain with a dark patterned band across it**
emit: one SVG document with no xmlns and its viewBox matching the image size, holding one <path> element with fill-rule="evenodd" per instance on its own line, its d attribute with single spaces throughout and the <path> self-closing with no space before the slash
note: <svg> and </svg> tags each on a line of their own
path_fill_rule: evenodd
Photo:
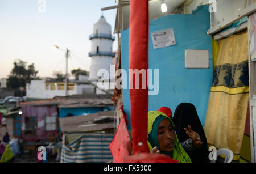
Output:
<svg viewBox="0 0 256 174">
<path fill-rule="evenodd" d="M 249 101 L 247 32 L 220 40 L 204 131 L 208 145 L 229 148 L 238 160 Z"/>
</svg>

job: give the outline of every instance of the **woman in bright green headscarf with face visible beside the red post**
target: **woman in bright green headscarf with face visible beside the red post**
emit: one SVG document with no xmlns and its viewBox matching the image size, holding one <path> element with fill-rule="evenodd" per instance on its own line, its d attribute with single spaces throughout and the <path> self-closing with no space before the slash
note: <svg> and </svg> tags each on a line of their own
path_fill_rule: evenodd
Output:
<svg viewBox="0 0 256 174">
<path fill-rule="evenodd" d="M 163 112 L 148 112 L 147 140 L 152 153 L 160 152 L 179 160 L 180 163 L 191 163 L 191 159 L 177 138 L 174 123 Z"/>
</svg>

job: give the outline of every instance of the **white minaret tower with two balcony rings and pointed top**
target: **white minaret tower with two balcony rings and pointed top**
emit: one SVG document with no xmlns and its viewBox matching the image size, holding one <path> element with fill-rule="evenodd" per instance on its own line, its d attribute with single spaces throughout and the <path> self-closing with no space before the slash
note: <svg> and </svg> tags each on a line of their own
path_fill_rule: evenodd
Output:
<svg viewBox="0 0 256 174">
<path fill-rule="evenodd" d="M 93 33 L 89 39 L 92 41 L 92 49 L 89 52 L 91 57 L 89 80 L 96 81 L 99 79 L 97 73 L 100 69 L 108 70 L 110 76 L 110 65 L 113 64 L 113 57 L 115 56 L 112 52 L 115 37 L 112 36 L 111 26 L 106 22 L 103 15 L 93 25 Z"/>
</svg>

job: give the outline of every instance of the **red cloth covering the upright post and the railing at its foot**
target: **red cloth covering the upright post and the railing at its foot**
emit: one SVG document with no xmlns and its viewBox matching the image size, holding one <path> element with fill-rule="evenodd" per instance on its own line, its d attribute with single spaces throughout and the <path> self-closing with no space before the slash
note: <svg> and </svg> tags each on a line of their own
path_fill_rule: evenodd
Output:
<svg viewBox="0 0 256 174">
<path fill-rule="evenodd" d="M 131 131 L 133 140 L 133 156 L 130 150 L 130 137 L 127 131 L 125 116 L 121 117 L 117 133 L 109 148 L 113 155 L 113 162 L 127 163 L 176 163 L 178 161 L 163 154 L 150 154 L 147 145 L 147 112 L 148 112 L 148 0 L 130 1 L 130 59 L 129 69 L 146 71 L 146 79 L 139 80 L 139 89 L 130 88 L 131 101 Z M 129 85 L 135 84 L 131 80 L 129 71 Z M 143 77 L 143 75 L 142 75 Z M 142 82 L 146 81 L 146 89 Z M 138 86 L 138 84 L 135 84 Z M 125 114 L 125 113 L 123 113 Z"/>
</svg>

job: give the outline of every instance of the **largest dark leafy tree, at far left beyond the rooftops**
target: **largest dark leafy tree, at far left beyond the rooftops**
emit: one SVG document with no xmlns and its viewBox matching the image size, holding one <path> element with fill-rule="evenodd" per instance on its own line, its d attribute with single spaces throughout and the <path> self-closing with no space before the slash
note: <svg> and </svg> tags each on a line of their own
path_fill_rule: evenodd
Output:
<svg viewBox="0 0 256 174">
<path fill-rule="evenodd" d="M 28 65 L 27 68 L 26 65 L 27 62 L 20 59 L 14 61 L 14 67 L 7 79 L 7 88 L 12 90 L 19 87 L 26 88 L 26 83 L 30 83 L 31 80 L 39 79 L 39 77 L 36 77 L 38 71 L 35 70 L 34 63 Z"/>
</svg>

